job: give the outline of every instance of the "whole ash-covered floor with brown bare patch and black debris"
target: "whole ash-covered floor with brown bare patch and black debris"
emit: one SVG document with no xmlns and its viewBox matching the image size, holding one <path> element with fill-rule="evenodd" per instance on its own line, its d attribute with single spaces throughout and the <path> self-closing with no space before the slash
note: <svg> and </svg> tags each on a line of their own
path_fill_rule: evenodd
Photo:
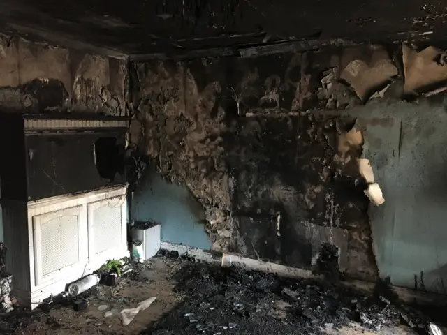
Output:
<svg viewBox="0 0 447 335">
<path fill-rule="evenodd" d="M 430 320 L 388 304 L 386 290 L 362 297 L 331 284 L 179 258 L 154 258 L 114 287 L 98 285 L 82 297 L 85 311 L 53 303 L 1 314 L 0 334 L 430 334 Z M 156 301 L 123 325 L 119 311 L 149 297 Z"/>
</svg>

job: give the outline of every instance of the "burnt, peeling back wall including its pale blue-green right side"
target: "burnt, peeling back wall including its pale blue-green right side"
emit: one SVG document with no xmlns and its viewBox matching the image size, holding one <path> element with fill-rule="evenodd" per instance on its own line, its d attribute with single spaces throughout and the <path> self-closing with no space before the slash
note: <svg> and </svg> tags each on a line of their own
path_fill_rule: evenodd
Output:
<svg viewBox="0 0 447 335">
<path fill-rule="evenodd" d="M 134 64 L 131 80 L 131 140 L 200 201 L 213 249 L 318 270 L 329 252 L 351 278 L 445 292 L 444 52 L 153 61 Z M 365 142 L 346 148 L 355 119 Z M 365 196 L 361 156 L 380 207 Z"/>
</svg>

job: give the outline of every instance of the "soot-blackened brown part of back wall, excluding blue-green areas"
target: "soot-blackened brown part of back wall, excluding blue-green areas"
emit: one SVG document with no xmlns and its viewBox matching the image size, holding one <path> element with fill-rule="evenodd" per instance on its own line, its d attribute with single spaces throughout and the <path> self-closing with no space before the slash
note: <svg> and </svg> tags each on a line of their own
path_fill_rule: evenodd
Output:
<svg viewBox="0 0 447 335">
<path fill-rule="evenodd" d="M 306 111 L 398 76 L 381 47 L 134 64 L 131 142 L 203 204 L 212 248 L 375 280 L 360 153 L 338 148 L 352 124 Z"/>
</svg>

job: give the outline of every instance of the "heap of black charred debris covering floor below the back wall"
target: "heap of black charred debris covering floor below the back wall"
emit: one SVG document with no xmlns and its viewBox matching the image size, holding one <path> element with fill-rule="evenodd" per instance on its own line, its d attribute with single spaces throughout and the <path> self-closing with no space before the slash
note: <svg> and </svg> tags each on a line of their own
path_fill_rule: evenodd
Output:
<svg viewBox="0 0 447 335">
<path fill-rule="evenodd" d="M 375 331 L 400 324 L 418 334 L 439 329 L 418 309 L 399 304 L 387 283 L 365 296 L 328 281 L 200 262 L 186 263 L 175 279 L 184 301 L 143 334 L 327 334 L 351 322 Z"/>
</svg>

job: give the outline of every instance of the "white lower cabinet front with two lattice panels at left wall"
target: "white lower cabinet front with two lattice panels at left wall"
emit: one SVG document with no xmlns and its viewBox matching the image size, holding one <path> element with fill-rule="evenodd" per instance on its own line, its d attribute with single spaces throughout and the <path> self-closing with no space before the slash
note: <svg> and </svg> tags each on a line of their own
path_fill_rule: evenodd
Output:
<svg viewBox="0 0 447 335">
<path fill-rule="evenodd" d="M 126 186 L 28 202 L 27 217 L 31 290 L 17 294 L 30 296 L 31 308 L 107 260 L 129 256 Z"/>
</svg>

